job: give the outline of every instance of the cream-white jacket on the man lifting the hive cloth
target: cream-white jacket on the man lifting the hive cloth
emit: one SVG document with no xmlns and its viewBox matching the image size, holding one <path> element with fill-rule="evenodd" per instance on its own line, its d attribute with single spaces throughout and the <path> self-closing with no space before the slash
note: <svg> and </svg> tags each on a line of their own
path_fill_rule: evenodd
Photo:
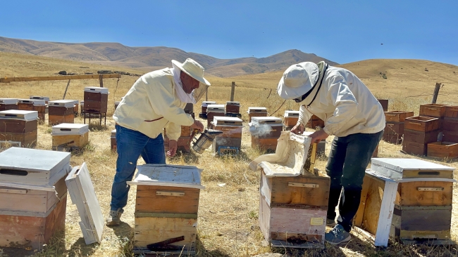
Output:
<svg viewBox="0 0 458 257">
<path fill-rule="evenodd" d="M 377 133 L 385 129 L 383 107 L 369 88 L 349 70 L 328 66 L 323 84 L 314 98 L 318 83 L 302 102 L 298 124 L 307 124 L 312 114 L 325 121 L 323 130 L 329 135 Z M 310 106 L 307 106 L 311 103 Z"/>
</svg>

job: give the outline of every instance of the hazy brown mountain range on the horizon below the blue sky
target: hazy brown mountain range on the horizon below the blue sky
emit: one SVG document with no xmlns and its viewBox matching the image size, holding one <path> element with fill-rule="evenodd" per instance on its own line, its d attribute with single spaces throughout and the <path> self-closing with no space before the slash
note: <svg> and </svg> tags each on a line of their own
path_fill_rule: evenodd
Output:
<svg viewBox="0 0 458 257">
<path fill-rule="evenodd" d="M 178 48 L 165 46 L 130 47 L 119 43 L 97 42 L 73 44 L 6 37 L 0 37 L 0 51 L 131 67 L 145 71 L 170 67 L 171 60 L 183 62 L 186 58 L 192 58 L 204 66 L 206 73 L 218 77 L 285 70 L 294 63 L 305 61 L 319 62 L 325 60 L 330 65 L 338 65 L 337 62 L 299 50 L 288 50 L 266 58 L 218 59 L 201 53 L 187 53 Z"/>
</svg>

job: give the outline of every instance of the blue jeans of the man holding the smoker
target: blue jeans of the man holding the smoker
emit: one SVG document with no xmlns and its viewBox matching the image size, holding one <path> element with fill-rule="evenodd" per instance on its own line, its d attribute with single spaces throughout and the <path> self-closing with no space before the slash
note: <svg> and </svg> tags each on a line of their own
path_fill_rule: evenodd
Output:
<svg viewBox="0 0 458 257">
<path fill-rule="evenodd" d="M 166 154 L 163 148 L 162 134 L 157 138 L 149 138 L 138 131 L 127 129 L 116 124 L 116 144 L 118 159 L 116 160 L 116 175 L 111 187 L 111 210 L 123 211 L 128 203 L 130 185 L 140 155 L 147 164 L 166 164 Z"/>
</svg>

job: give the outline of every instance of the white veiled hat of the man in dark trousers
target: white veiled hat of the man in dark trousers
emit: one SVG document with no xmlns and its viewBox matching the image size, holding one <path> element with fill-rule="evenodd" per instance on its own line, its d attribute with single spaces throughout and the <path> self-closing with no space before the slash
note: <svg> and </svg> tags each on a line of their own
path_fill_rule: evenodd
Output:
<svg viewBox="0 0 458 257">
<path fill-rule="evenodd" d="M 299 98 L 311 91 L 318 80 L 318 65 L 301 62 L 288 67 L 278 83 L 277 92 L 283 99 Z"/>
</svg>

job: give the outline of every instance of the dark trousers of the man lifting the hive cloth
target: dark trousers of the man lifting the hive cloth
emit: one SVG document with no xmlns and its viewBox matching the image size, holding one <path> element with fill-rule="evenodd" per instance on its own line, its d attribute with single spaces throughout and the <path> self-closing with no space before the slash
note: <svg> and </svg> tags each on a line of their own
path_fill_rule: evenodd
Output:
<svg viewBox="0 0 458 257">
<path fill-rule="evenodd" d="M 335 137 L 330 148 L 326 165 L 330 177 L 327 216 L 335 219 L 340 198 L 338 224 L 347 232 L 352 229 L 352 219 L 358 211 L 366 167 L 382 136 L 383 131 Z"/>
</svg>

